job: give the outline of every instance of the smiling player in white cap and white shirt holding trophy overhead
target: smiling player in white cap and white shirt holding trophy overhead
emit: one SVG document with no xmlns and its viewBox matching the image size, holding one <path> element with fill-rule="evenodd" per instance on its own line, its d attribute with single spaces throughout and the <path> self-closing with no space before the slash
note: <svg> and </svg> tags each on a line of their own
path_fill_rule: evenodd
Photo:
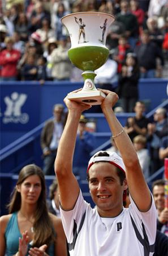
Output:
<svg viewBox="0 0 168 256">
<path fill-rule="evenodd" d="M 77 91 L 76 91 L 77 92 Z M 113 112 L 118 96 L 109 90 L 101 104 L 120 151 L 101 151 L 88 164 L 89 189 L 96 208 L 84 199 L 72 173 L 72 161 L 80 115 L 91 108 L 64 99 L 68 108 L 66 126 L 55 159 L 60 209 L 70 255 L 152 256 L 156 238 L 156 207 L 145 182 L 135 148 Z M 123 208 L 126 189 L 130 207 Z"/>
</svg>

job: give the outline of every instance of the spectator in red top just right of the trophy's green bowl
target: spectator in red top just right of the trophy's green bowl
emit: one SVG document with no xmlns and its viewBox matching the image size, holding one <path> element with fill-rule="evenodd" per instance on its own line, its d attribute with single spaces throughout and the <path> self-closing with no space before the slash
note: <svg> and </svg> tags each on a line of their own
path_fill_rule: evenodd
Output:
<svg viewBox="0 0 168 256">
<path fill-rule="evenodd" d="M 118 40 L 118 46 L 113 51 L 113 59 L 118 63 L 118 73 L 122 72 L 122 66 L 126 61 L 128 52 L 132 52 L 130 45 L 127 42 L 127 38 L 121 35 Z"/>
</svg>

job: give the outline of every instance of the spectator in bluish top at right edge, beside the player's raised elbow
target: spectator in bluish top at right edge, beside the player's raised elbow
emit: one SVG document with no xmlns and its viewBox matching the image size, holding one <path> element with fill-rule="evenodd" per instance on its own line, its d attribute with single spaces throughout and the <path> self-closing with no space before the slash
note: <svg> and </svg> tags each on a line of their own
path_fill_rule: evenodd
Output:
<svg viewBox="0 0 168 256">
<path fill-rule="evenodd" d="M 148 123 L 148 135 L 150 151 L 150 174 L 154 174 L 163 166 L 159 158 L 161 138 L 167 136 L 167 114 L 166 109 L 158 108 L 154 113 L 154 122 Z"/>
</svg>

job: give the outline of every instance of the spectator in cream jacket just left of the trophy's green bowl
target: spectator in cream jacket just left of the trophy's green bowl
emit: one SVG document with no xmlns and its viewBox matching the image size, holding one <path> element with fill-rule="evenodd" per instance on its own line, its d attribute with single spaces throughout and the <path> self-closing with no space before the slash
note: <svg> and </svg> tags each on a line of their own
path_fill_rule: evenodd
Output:
<svg viewBox="0 0 168 256">
<path fill-rule="evenodd" d="M 58 48 L 51 53 L 50 63 L 53 65 L 51 75 L 54 81 L 70 80 L 72 64 L 68 57 L 67 38 L 64 36 L 58 42 Z"/>
</svg>

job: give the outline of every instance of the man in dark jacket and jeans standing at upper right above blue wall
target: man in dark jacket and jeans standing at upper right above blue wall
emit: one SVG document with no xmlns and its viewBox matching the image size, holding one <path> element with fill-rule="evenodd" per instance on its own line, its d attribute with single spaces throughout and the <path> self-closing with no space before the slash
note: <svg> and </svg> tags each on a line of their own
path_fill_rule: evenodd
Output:
<svg viewBox="0 0 168 256">
<path fill-rule="evenodd" d="M 153 78 L 156 72 L 156 60 L 161 61 L 161 67 L 163 67 L 163 54 L 157 44 L 150 41 L 149 32 L 144 30 L 141 33 L 141 44 L 135 48 L 137 60 L 140 65 L 141 78 Z"/>
</svg>

